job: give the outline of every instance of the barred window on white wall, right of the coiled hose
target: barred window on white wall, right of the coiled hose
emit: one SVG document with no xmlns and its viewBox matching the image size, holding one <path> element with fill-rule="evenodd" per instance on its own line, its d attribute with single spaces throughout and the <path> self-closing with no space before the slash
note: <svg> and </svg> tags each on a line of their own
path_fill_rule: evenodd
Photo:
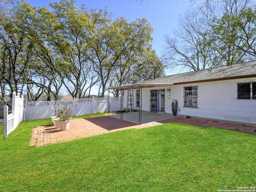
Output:
<svg viewBox="0 0 256 192">
<path fill-rule="evenodd" d="M 198 108 L 198 86 L 184 87 L 184 107 Z"/>
</svg>

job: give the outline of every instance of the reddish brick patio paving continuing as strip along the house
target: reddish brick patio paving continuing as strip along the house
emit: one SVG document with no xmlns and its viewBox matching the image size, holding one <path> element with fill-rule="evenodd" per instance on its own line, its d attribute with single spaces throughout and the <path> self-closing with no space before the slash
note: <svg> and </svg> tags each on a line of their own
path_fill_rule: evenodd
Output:
<svg viewBox="0 0 256 192">
<path fill-rule="evenodd" d="M 159 122 L 150 122 L 139 125 L 111 116 L 101 116 L 71 120 L 69 129 L 66 131 L 56 129 L 53 125 L 35 127 L 32 130 L 29 146 L 40 147 L 48 144 L 73 140 L 76 138 L 89 137 L 130 128 L 145 128 L 168 122 L 180 122 L 202 127 L 214 126 L 218 128 L 256 134 L 256 126 L 238 125 L 226 122 L 218 122 L 214 120 L 176 117 L 167 120 L 162 120 Z"/>
</svg>

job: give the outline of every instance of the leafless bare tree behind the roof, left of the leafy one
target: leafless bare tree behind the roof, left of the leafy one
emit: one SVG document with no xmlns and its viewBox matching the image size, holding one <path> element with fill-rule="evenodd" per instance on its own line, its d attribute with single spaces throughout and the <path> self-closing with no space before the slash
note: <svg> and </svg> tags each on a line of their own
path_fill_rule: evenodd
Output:
<svg viewBox="0 0 256 192">
<path fill-rule="evenodd" d="M 180 66 L 197 71 L 216 65 L 216 54 L 208 43 L 206 28 L 202 28 L 199 16 L 187 13 L 180 18 L 180 28 L 173 32 L 174 37 L 165 36 L 165 60 L 171 67 Z"/>
</svg>

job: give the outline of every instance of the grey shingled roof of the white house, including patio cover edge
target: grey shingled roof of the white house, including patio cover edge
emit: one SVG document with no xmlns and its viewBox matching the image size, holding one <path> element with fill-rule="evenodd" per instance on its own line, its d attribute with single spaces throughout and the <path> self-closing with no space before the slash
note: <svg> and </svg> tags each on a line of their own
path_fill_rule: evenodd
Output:
<svg viewBox="0 0 256 192">
<path fill-rule="evenodd" d="M 130 86 L 120 86 L 110 89 L 132 88 L 138 86 L 146 87 L 148 85 L 154 87 L 173 85 L 173 84 L 188 84 L 196 82 L 210 82 L 218 80 L 238 79 L 256 77 L 256 61 L 245 62 L 243 64 L 234 64 L 232 66 L 221 66 L 211 69 L 186 72 L 181 74 L 159 77 L 156 79 L 145 80 L 138 84 Z"/>
</svg>

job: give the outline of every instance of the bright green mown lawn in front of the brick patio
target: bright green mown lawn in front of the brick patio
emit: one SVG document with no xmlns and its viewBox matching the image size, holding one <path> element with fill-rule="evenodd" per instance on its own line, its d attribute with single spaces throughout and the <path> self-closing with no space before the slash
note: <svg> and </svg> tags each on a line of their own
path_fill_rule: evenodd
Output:
<svg viewBox="0 0 256 192">
<path fill-rule="evenodd" d="M 33 126 L 0 138 L 0 191 L 217 191 L 256 186 L 256 135 L 169 123 L 28 147 Z M 3 127 L 0 127 L 0 131 Z"/>
</svg>

